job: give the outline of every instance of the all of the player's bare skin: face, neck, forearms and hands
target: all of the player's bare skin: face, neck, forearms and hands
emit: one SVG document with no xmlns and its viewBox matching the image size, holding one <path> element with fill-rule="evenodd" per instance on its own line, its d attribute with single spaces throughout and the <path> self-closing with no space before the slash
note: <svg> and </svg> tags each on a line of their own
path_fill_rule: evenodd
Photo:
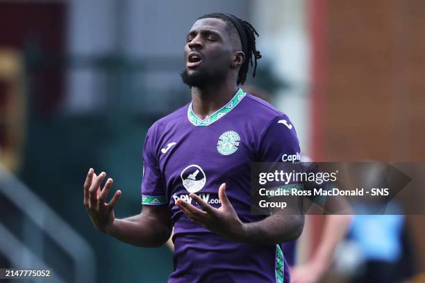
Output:
<svg viewBox="0 0 425 283">
<path fill-rule="evenodd" d="M 184 49 L 185 70 L 188 75 L 197 72 L 222 74 L 220 81 L 211 81 L 201 87 L 192 87 L 192 108 L 200 117 L 206 118 L 222 108 L 238 90 L 236 81 L 244 53 L 240 51 L 240 40 L 228 34 L 226 23 L 221 19 L 199 19 L 187 36 Z M 191 63 L 190 56 L 201 58 Z M 114 236 L 120 241 L 142 247 L 163 245 L 172 233 L 172 221 L 167 205 L 144 205 L 142 212 L 124 219 L 115 218 L 113 211 L 121 191 L 116 191 L 112 200 L 106 203 L 113 179 L 108 179 L 101 189 L 106 173 L 99 176 L 90 169 L 84 184 L 84 204 L 90 219 L 101 232 Z M 226 196 L 226 184 L 219 187 L 222 207 L 216 209 L 194 193 L 190 197 L 201 209 L 183 200 L 176 205 L 185 216 L 210 231 L 232 241 L 274 245 L 297 238 L 303 228 L 303 216 L 272 215 L 256 223 L 242 223 Z"/>
</svg>

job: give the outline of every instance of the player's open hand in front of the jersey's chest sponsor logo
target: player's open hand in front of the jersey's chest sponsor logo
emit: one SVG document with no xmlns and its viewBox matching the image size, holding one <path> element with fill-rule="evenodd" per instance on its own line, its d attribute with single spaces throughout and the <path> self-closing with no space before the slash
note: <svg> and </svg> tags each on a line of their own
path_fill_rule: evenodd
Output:
<svg viewBox="0 0 425 283">
<path fill-rule="evenodd" d="M 219 209 L 210 206 L 194 193 L 189 196 L 199 204 L 202 210 L 181 199 L 176 201 L 176 205 L 190 220 L 233 241 L 243 241 L 244 223 L 239 219 L 232 204 L 228 201 L 226 184 L 219 187 L 219 200 L 222 203 Z"/>
</svg>

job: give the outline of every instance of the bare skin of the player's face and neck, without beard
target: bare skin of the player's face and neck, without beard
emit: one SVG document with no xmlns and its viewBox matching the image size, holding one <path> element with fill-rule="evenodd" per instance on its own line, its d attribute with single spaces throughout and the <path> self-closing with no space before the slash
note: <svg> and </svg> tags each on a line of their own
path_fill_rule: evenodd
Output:
<svg viewBox="0 0 425 283">
<path fill-rule="evenodd" d="M 199 19 L 186 37 L 185 63 L 190 52 L 201 55 L 201 63 L 188 67 L 186 72 L 219 72 L 225 79 L 202 88 L 192 87 L 192 109 L 199 118 L 206 118 L 224 106 L 238 90 L 236 81 L 245 56 L 240 40 L 235 40 L 226 31 L 226 22 L 221 19 Z"/>
</svg>

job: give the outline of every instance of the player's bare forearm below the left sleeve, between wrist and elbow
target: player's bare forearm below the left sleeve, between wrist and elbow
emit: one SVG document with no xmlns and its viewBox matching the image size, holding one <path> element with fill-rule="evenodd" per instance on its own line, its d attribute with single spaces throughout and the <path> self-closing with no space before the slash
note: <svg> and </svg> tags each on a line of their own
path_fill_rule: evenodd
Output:
<svg viewBox="0 0 425 283">
<path fill-rule="evenodd" d="M 171 234 L 171 228 L 158 222 L 147 213 L 117 219 L 106 229 L 106 234 L 119 241 L 139 247 L 154 248 L 163 245 Z"/>
</svg>

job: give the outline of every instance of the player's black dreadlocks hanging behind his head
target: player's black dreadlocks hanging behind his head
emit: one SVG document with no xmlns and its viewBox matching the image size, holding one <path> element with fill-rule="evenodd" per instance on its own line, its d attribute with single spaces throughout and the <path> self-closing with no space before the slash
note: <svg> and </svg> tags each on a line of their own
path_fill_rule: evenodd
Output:
<svg viewBox="0 0 425 283">
<path fill-rule="evenodd" d="M 249 65 L 251 65 L 251 67 L 253 66 L 252 76 L 255 78 L 257 70 L 257 60 L 261 58 L 260 51 L 258 51 L 256 47 L 256 35 L 260 36 L 258 35 L 256 29 L 254 29 L 253 26 L 249 24 L 249 22 L 230 14 L 211 13 L 203 15 L 198 19 L 206 18 L 222 19 L 224 22 L 226 22 L 228 34 L 231 36 L 236 35 L 240 38 L 240 41 L 242 43 L 242 51 L 245 54 L 245 61 L 242 66 L 240 66 L 237 81 L 238 85 L 243 85 L 245 80 L 247 79 Z"/>
</svg>

